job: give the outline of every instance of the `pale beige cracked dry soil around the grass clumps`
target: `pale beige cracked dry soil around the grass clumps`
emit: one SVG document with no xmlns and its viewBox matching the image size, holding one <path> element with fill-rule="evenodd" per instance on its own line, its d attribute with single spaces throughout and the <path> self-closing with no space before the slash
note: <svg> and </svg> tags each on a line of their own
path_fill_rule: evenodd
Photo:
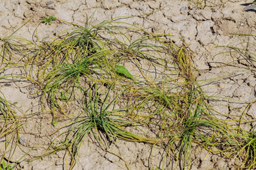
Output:
<svg viewBox="0 0 256 170">
<path fill-rule="evenodd" d="M 39 40 L 44 40 L 72 28 L 74 25 L 69 22 L 85 25 L 87 17 L 90 17 L 91 25 L 96 25 L 118 16 L 134 16 L 124 17 L 121 21 L 144 28 L 153 34 L 171 34 L 172 41 L 178 46 L 183 42 L 187 43 L 194 54 L 192 59 L 198 69 L 197 80 L 207 95 L 215 97 L 209 100 L 209 104 L 214 106 L 216 117 L 222 118 L 218 113 L 232 117 L 231 115 L 241 114 L 238 109 L 245 110 L 248 103 L 256 100 L 254 65 L 237 53 L 219 54 L 230 49 L 216 46 L 236 46 L 255 54 L 255 37 L 238 34 L 256 34 L 256 13 L 255 10 L 243 10 L 245 4 L 251 3 L 251 0 L 224 2 L 222 4 L 220 0 L 206 0 L 200 8 L 181 0 L 2 0 L 0 37 L 12 34 L 28 19 L 29 22 L 16 35 L 29 40 L 35 40 L 38 36 Z M 52 25 L 40 24 L 45 16 L 55 16 L 66 22 L 58 20 L 53 21 Z M 133 69 L 129 65 L 126 67 Z M 2 70 L 1 76 L 11 73 L 19 74 L 23 70 Z M 36 88 L 33 85 L 6 79 L 0 81 L 0 91 L 6 100 L 14 103 L 17 115 L 32 115 L 26 117 L 23 127 L 20 128 L 20 147 L 16 148 L 11 160 L 20 160 L 27 152 L 29 155 L 42 154 L 56 136 L 50 134 L 66 122 L 53 127 L 50 113 L 47 110 L 44 113 L 38 112 L 41 110 L 41 103 L 40 98 L 31 95 Z M 223 100 L 217 97 L 222 97 Z M 70 106 L 68 109 L 72 107 L 75 108 Z M 245 130 L 251 130 L 255 125 L 255 103 L 248 107 L 246 114 L 251 121 L 241 126 Z M 151 130 L 145 130 L 145 133 L 151 133 Z M 0 138 L 0 145 L 4 145 L 5 136 Z M 3 154 L 4 147 L 0 149 L 0 154 Z M 87 136 L 79 153 L 74 169 L 127 169 L 127 166 L 130 169 L 186 169 L 177 166 L 175 160 L 166 155 L 160 146 L 139 142 L 119 140 L 111 144 L 109 150 L 105 150 L 95 139 Z M 19 166 L 21 169 L 64 169 L 66 157 L 66 153 L 60 151 L 31 163 L 20 163 Z M 195 147 L 191 169 L 236 169 L 238 162 L 225 160 Z"/>
</svg>

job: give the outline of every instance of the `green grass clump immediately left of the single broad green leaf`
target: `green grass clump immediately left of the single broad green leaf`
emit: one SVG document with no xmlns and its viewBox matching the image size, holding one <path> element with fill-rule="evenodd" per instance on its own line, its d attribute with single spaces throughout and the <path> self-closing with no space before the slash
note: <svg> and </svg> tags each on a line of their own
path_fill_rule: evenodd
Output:
<svg viewBox="0 0 256 170">
<path fill-rule="evenodd" d="M 93 79 L 93 74 L 101 76 L 99 73 L 105 73 L 104 65 L 102 66 L 102 64 L 105 62 L 105 56 L 109 53 L 111 52 L 108 50 L 102 50 L 93 55 L 80 56 L 73 63 L 63 63 L 53 67 L 44 78 L 45 85 L 43 89 L 52 107 L 59 107 L 56 101 L 58 97 L 69 101 L 72 95 L 74 95 L 74 93 L 69 94 L 69 91 L 73 91 L 71 89 L 84 89 L 82 88 L 84 84 L 81 82 L 81 79 L 84 79 L 84 82 L 86 82 L 86 79 Z M 64 94 L 69 96 L 63 97 Z"/>
</svg>

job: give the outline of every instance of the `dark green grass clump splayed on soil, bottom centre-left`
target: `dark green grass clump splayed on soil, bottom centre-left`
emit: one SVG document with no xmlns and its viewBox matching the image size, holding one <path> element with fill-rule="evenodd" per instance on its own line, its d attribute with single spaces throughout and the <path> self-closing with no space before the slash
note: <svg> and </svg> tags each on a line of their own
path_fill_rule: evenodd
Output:
<svg viewBox="0 0 256 170">
<path fill-rule="evenodd" d="M 69 130 L 63 133 L 64 135 L 67 134 L 65 141 L 59 146 L 53 147 L 51 153 L 68 149 L 69 154 L 72 156 L 70 169 L 75 166 L 81 142 L 88 133 L 92 133 L 104 145 L 107 145 L 105 142 L 115 142 L 116 139 L 149 143 L 159 141 L 159 139 L 147 139 L 143 136 L 138 136 L 125 129 L 125 127 L 139 124 L 139 122 L 130 120 L 129 108 L 115 109 L 120 96 L 126 89 L 111 100 L 110 96 L 113 92 L 113 87 L 114 85 L 111 85 L 110 88 L 103 90 L 104 85 L 101 85 L 99 88 L 98 85 L 93 85 L 87 92 L 84 112 L 78 114 L 78 117 L 72 121 Z"/>
</svg>

